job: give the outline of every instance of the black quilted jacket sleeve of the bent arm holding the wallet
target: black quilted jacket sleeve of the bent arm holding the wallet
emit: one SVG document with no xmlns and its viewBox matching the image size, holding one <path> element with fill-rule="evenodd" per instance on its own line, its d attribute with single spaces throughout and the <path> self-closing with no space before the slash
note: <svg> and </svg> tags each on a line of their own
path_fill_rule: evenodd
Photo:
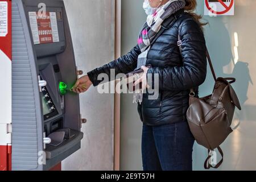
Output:
<svg viewBox="0 0 256 182">
<path fill-rule="evenodd" d="M 147 77 L 159 74 L 159 90 L 187 90 L 205 81 L 207 75 L 206 46 L 203 31 L 193 19 L 184 20 L 178 30 L 183 65 L 178 67 L 153 67 Z M 149 75 L 150 74 L 150 75 Z M 152 78 L 153 86 L 155 84 Z"/>
</svg>

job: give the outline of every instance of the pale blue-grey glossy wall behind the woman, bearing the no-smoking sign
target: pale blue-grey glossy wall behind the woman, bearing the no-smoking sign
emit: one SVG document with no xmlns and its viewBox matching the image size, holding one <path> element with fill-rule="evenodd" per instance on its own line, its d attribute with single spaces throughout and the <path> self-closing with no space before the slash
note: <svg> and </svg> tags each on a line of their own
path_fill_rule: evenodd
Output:
<svg viewBox="0 0 256 182">
<path fill-rule="evenodd" d="M 122 0 L 122 54 L 135 44 L 138 32 L 146 16 L 142 9 L 143 0 Z M 197 13 L 203 15 L 204 1 L 199 3 Z M 205 27 L 205 38 L 213 59 L 217 76 L 234 76 L 237 83 L 234 88 L 240 97 L 242 111 L 236 111 L 233 126 L 240 123 L 229 138 L 222 144 L 224 163 L 218 170 L 256 169 L 256 95 L 255 80 L 255 0 L 236 0 L 234 16 L 209 17 Z M 234 32 L 238 34 L 239 59 L 234 61 Z M 200 87 L 200 95 L 206 96 L 213 89 L 213 79 L 208 69 L 208 77 Z M 207 150 L 195 144 L 193 168 L 203 170 Z M 132 104 L 132 96 L 121 97 L 121 169 L 142 169 L 141 163 L 141 123 Z"/>
</svg>

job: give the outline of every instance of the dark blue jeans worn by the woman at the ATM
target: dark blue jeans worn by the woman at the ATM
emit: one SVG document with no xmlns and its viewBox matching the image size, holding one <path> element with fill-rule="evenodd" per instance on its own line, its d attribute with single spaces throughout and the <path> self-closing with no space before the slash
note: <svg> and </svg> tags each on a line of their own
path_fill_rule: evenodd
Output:
<svg viewBox="0 0 256 182">
<path fill-rule="evenodd" d="M 187 122 L 162 126 L 143 125 L 143 170 L 192 171 L 194 142 Z"/>
</svg>

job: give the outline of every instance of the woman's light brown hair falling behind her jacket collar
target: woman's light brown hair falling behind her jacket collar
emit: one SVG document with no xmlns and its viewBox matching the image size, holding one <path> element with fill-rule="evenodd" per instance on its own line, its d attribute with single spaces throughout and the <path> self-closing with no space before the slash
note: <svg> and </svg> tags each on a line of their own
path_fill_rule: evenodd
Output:
<svg viewBox="0 0 256 182">
<path fill-rule="evenodd" d="M 187 11 L 187 13 L 189 13 L 192 16 L 192 18 L 196 20 L 197 23 L 199 23 L 201 29 L 203 30 L 203 26 L 207 25 L 208 23 L 202 23 L 200 21 L 202 19 L 202 16 L 194 13 L 197 6 L 196 0 L 185 0 L 185 2 L 185 11 Z"/>
</svg>

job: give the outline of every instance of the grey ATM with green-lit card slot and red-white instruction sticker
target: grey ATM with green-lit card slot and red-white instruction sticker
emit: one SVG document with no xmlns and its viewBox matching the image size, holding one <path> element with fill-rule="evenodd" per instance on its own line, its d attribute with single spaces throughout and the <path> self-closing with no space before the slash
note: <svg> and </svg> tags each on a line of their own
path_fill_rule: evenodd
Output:
<svg viewBox="0 0 256 182">
<path fill-rule="evenodd" d="M 64 2 L 12 1 L 13 170 L 49 170 L 81 147 L 78 75 Z"/>
</svg>

